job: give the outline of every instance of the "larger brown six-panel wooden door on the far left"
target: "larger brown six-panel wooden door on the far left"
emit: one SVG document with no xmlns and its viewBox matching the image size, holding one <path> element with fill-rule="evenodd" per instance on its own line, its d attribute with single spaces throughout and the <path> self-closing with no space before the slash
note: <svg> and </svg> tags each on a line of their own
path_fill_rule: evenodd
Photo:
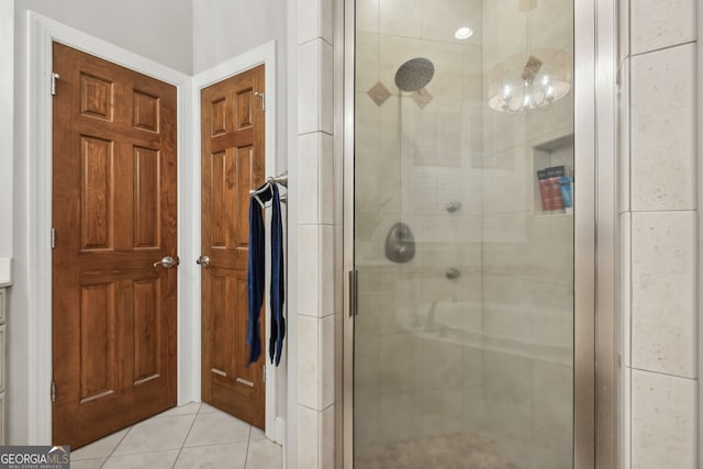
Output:
<svg viewBox="0 0 703 469">
<path fill-rule="evenodd" d="M 54 44 L 53 440 L 176 404 L 175 87 Z"/>
</svg>

